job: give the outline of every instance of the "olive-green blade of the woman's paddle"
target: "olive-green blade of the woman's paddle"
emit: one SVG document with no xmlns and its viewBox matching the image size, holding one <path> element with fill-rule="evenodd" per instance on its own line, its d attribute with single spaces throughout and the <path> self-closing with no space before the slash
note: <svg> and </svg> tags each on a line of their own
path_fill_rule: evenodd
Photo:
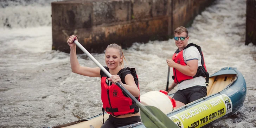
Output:
<svg viewBox="0 0 256 128">
<path fill-rule="evenodd" d="M 152 113 L 152 115 L 154 115 L 160 122 L 152 121 L 152 118 L 150 117 L 151 114 L 149 114 L 149 117 L 148 117 L 147 111 L 144 111 L 143 107 L 148 109 Z M 164 127 L 162 128 L 179 128 L 177 124 L 175 124 L 171 119 L 169 119 L 169 117 L 165 115 L 160 109 L 154 106 L 149 106 L 149 105 L 146 105 L 143 107 L 140 109 L 141 110 L 140 115 L 141 115 L 141 120 L 143 124 L 147 128 L 159 128 L 159 126 L 161 126 L 161 124 L 159 123 L 164 124 Z"/>
</svg>

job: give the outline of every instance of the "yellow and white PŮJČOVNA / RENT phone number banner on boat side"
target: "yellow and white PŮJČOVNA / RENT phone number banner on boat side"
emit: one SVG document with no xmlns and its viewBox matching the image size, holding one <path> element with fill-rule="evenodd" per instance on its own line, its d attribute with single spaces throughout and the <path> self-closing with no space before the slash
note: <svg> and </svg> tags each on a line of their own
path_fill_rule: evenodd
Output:
<svg viewBox="0 0 256 128">
<path fill-rule="evenodd" d="M 225 94 L 191 106 L 169 118 L 180 128 L 200 128 L 232 112 L 232 101 Z"/>
</svg>

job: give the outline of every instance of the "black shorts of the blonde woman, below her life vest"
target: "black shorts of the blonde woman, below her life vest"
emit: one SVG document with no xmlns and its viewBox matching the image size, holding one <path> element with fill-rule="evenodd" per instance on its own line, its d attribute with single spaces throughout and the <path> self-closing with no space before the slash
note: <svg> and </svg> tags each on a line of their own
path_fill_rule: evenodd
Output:
<svg viewBox="0 0 256 128">
<path fill-rule="evenodd" d="M 140 116 L 116 118 L 112 115 L 109 115 L 108 120 L 103 124 L 103 126 L 101 126 L 101 128 L 118 128 L 139 122 L 141 122 Z"/>
</svg>

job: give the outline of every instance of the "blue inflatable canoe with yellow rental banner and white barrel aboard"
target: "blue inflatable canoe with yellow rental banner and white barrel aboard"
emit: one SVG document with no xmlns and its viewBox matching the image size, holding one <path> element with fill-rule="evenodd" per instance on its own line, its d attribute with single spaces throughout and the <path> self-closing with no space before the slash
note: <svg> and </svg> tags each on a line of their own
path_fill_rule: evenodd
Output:
<svg viewBox="0 0 256 128">
<path fill-rule="evenodd" d="M 141 95 L 143 105 L 152 105 L 163 111 L 180 128 L 199 128 L 207 126 L 235 113 L 246 96 L 246 83 L 243 75 L 236 68 L 223 68 L 209 78 L 207 96 L 173 109 L 174 94 L 166 95 L 165 91 L 150 91 Z M 109 114 L 104 114 L 104 120 Z M 102 114 L 89 119 L 54 126 L 52 128 L 100 128 Z M 131 124 L 120 128 L 146 128 L 143 123 Z"/>
</svg>

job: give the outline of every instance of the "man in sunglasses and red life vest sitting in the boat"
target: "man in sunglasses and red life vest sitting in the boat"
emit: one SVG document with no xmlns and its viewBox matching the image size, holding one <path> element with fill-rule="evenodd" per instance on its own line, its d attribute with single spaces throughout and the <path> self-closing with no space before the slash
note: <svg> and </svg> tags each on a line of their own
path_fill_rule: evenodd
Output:
<svg viewBox="0 0 256 128">
<path fill-rule="evenodd" d="M 172 59 L 166 60 L 168 66 L 173 68 L 174 79 L 168 92 L 178 85 L 178 91 L 172 97 L 177 104 L 175 109 L 207 95 L 209 73 L 205 67 L 203 53 L 198 45 L 188 44 L 188 39 L 188 31 L 185 27 L 176 28 L 174 40 L 178 50 Z"/>
</svg>

